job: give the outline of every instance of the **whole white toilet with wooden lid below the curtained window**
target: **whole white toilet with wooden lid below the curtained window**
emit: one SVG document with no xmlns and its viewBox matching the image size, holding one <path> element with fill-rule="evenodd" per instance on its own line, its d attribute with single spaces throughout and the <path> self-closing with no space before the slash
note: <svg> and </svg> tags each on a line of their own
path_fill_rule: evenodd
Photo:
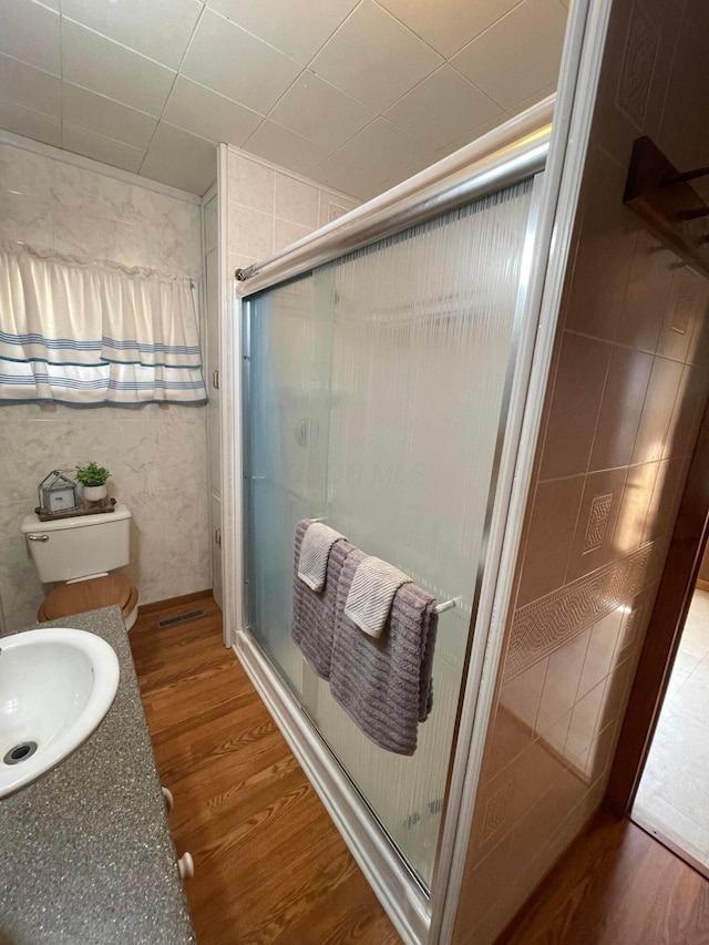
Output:
<svg viewBox="0 0 709 945">
<path fill-rule="evenodd" d="M 137 617 L 137 588 L 122 574 L 109 574 L 130 561 L 131 513 L 125 505 L 99 515 L 40 522 L 27 515 L 20 531 L 42 584 L 55 587 L 40 607 L 38 620 L 58 620 L 117 604 L 126 629 Z"/>
</svg>

